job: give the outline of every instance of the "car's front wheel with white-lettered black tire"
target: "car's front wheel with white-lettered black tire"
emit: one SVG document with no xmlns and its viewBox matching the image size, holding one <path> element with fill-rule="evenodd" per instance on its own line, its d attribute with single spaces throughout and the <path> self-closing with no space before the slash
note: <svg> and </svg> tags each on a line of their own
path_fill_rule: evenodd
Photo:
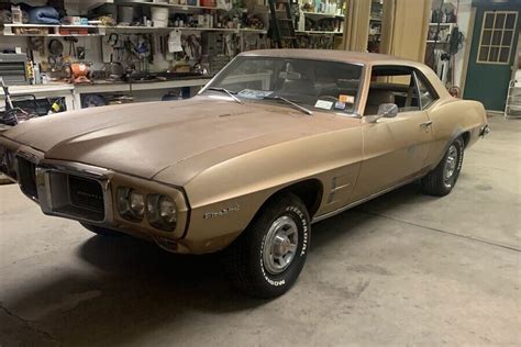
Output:
<svg viewBox="0 0 521 347">
<path fill-rule="evenodd" d="M 284 294 L 306 262 L 310 232 L 308 211 L 298 197 L 275 198 L 228 249 L 232 283 L 252 296 Z"/>
</svg>

